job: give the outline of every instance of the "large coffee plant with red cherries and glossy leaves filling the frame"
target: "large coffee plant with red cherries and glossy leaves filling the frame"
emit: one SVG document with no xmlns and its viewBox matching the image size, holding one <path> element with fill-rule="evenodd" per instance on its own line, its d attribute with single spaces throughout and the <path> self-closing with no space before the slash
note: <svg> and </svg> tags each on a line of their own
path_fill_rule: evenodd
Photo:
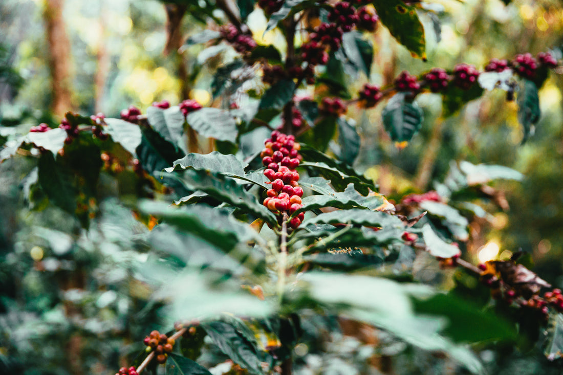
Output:
<svg viewBox="0 0 563 375">
<path fill-rule="evenodd" d="M 388 373 L 385 361 L 401 363 L 409 351 L 434 361 L 436 373 L 481 374 L 482 352 L 538 348 L 558 368 L 561 291 L 519 252 L 466 260 L 470 224 L 504 207 L 493 182 L 523 176 L 452 163 L 435 190 L 387 199 L 353 167 L 361 137 L 346 116 L 381 106 L 390 142 L 404 149 L 423 124 L 418 95 L 441 96 L 448 116 L 503 90 L 517 103 L 525 142 L 540 118 L 538 90 L 560 68 L 558 51 L 495 56 L 483 70 L 461 63 L 404 71 L 387 86 L 367 82 L 350 92 L 351 78 L 369 77 L 367 35 L 379 28 L 426 60 L 418 15 L 432 7 L 173 3 L 213 20 L 182 48 L 234 56 L 213 68 L 214 106 L 160 101 L 129 106 L 120 118 L 68 112 L 58 126 L 34 124 L 3 140 L 1 160 L 28 170 L 19 182 L 28 215 L 55 214 L 17 233 L 33 261 L 15 251 L 2 272 L 48 274 L 64 291 L 48 298 L 53 291 L 33 287 L 36 275 L 23 283 L 45 297 L 30 311 L 6 295 L 6 369 L 23 371 L 18 358 L 32 358 L 57 335 L 107 337 L 106 346 L 82 342 L 70 353 L 88 372 L 116 375 Z M 283 35 L 284 49 L 254 40 L 247 17 L 255 7 L 266 31 Z M 205 142 L 213 151 L 191 147 Z M 438 287 L 445 278 L 447 290 Z M 86 289 L 96 298 L 83 298 Z M 57 309 L 34 318 L 43 304 Z M 126 319 L 110 324 L 118 314 Z M 117 342 L 116 332 L 126 340 Z M 346 354 L 356 367 L 327 354 L 343 336 L 358 339 Z M 115 368 L 94 367 L 101 357 Z M 45 365 L 63 366 L 53 358 Z"/>
</svg>

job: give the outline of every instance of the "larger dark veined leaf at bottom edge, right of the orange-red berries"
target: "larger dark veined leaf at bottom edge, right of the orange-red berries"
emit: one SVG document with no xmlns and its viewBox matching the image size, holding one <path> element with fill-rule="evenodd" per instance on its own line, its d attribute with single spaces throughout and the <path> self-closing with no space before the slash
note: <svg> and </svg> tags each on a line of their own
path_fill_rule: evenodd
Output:
<svg viewBox="0 0 563 375">
<path fill-rule="evenodd" d="M 224 322 L 209 322 L 201 325 L 215 345 L 234 363 L 247 369 L 251 374 L 263 374 L 256 346 L 239 334 L 232 325 Z"/>
</svg>

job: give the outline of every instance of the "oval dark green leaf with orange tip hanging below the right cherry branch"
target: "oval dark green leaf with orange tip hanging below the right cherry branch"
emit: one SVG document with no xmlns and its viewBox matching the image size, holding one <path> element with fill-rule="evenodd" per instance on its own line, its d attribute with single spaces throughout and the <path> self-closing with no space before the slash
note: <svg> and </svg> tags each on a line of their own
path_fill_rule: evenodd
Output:
<svg viewBox="0 0 563 375">
<path fill-rule="evenodd" d="M 408 142 L 422 126 L 422 109 L 405 100 L 406 93 L 395 94 L 382 111 L 383 126 L 395 142 Z"/>
</svg>

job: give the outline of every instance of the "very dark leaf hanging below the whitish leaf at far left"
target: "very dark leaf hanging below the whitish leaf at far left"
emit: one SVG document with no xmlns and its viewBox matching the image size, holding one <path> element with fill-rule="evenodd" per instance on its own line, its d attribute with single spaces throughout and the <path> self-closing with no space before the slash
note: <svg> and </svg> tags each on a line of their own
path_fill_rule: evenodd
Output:
<svg viewBox="0 0 563 375">
<path fill-rule="evenodd" d="M 43 153 L 37 166 L 39 185 L 49 200 L 74 214 L 77 190 L 73 172 L 62 163 L 57 163 L 52 153 Z"/>
</svg>

